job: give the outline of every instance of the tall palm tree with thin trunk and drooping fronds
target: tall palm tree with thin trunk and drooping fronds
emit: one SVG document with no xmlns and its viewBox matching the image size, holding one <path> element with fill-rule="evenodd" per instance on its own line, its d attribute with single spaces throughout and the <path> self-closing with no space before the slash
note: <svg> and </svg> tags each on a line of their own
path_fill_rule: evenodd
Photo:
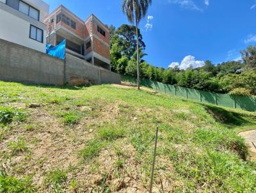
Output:
<svg viewBox="0 0 256 193">
<path fill-rule="evenodd" d="M 152 0 L 123 0 L 122 10 L 127 16 L 129 22 L 136 23 L 136 36 L 137 36 L 137 75 L 138 75 L 138 89 L 140 89 L 140 49 L 139 49 L 139 35 L 138 26 L 141 19 L 146 16 L 148 7 L 152 4 Z M 135 15 L 134 15 L 135 13 Z"/>
</svg>

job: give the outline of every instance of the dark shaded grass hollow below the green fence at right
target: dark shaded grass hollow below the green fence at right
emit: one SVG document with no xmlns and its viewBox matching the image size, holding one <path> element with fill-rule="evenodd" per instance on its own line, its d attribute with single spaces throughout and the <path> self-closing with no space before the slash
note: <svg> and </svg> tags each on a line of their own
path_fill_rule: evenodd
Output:
<svg viewBox="0 0 256 193">
<path fill-rule="evenodd" d="M 228 128 L 241 127 L 243 125 L 253 124 L 244 118 L 243 113 L 227 111 L 221 107 L 216 107 L 212 105 L 204 105 L 205 110 L 211 114 L 215 121 L 221 123 Z M 248 117 L 249 115 L 246 114 Z M 255 116 L 250 118 L 255 119 Z"/>
</svg>

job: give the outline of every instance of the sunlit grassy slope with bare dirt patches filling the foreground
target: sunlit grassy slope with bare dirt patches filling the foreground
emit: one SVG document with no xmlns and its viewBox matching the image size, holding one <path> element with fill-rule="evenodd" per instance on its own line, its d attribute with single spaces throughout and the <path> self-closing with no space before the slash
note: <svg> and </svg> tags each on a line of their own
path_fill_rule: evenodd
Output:
<svg viewBox="0 0 256 193">
<path fill-rule="evenodd" d="M 31 102 L 38 108 L 28 108 Z M 2 118 L 2 119 L 1 119 Z M 255 192 L 256 114 L 102 85 L 0 82 L 0 192 Z"/>
</svg>

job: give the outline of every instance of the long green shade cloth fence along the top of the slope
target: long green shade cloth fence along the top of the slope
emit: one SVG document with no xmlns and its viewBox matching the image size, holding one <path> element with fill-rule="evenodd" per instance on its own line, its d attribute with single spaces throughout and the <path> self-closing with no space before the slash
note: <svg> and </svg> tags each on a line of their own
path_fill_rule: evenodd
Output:
<svg viewBox="0 0 256 193">
<path fill-rule="evenodd" d="M 121 75 L 122 81 L 137 83 L 135 77 L 129 75 Z M 243 109 L 245 111 L 256 111 L 256 98 L 253 96 L 237 96 L 211 93 L 207 91 L 200 91 L 198 89 L 183 88 L 180 86 L 173 86 L 170 84 L 163 84 L 161 82 L 150 81 L 148 79 L 141 79 L 141 86 L 152 88 L 166 94 L 182 96 L 184 98 L 198 100 L 200 102 L 211 103 L 223 107 L 231 107 L 235 109 Z"/>
</svg>

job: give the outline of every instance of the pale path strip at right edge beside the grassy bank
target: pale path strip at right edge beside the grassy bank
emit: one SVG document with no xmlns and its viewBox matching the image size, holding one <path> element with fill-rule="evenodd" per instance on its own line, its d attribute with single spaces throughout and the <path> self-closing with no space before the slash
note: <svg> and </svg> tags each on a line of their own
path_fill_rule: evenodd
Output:
<svg viewBox="0 0 256 193">
<path fill-rule="evenodd" d="M 241 137 L 244 137 L 246 143 L 250 147 L 250 153 L 252 160 L 256 160 L 256 130 L 248 130 L 246 132 L 239 133 Z"/>
</svg>

